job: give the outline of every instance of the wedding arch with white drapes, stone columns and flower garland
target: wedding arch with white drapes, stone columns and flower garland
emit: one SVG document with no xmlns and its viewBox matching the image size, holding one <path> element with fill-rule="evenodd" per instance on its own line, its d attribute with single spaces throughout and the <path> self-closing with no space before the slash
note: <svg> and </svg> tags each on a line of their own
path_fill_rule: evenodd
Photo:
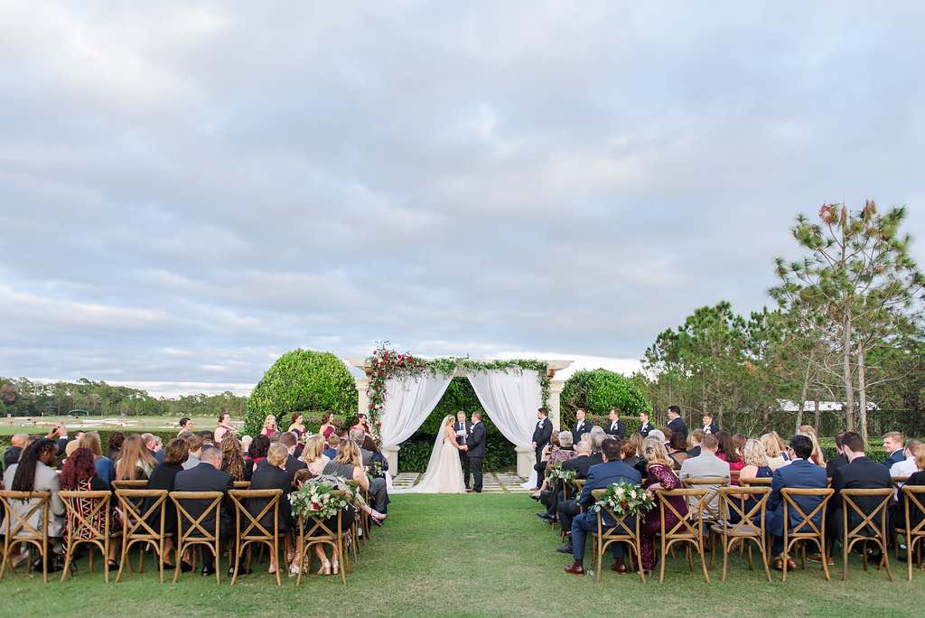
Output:
<svg viewBox="0 0 925 618">
<path fill-rule="evenodd" d="M 362 369 L 355 377 L 358 411 L 369 416 L 370 426 L 382 441 L 390 470 L 399 470 L 401 442 L 411 438 L 437 407 L 453 377 L 466 377 L 475 389 L 492 423 L 517 451 L 517 474 L 533 472 L 531 448 L 536 408 L 549 409 L 552 426 L 559 429 L 563 381 L 556 372 L 572 361 L 534 359 L 475 360 L 448 357 L 424 359 L 400 353 L 385 345 L 372 356 L 351 359 Z"/>
</svg>

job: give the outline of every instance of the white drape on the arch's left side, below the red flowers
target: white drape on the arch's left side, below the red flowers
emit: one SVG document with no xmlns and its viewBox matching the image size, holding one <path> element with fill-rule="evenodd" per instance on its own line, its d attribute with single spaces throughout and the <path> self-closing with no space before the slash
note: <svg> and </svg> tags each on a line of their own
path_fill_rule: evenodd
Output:
<svg viewBox="0 0 925 618">
<path fill-rule="evenodd" d="M 389 378 L 386 380 L 386 401 L 379 411 L 379 431 L 384 446 L 397 446 L 412 434 L 437 407 L 450 386 L 452 376 Z"/>
</svg>

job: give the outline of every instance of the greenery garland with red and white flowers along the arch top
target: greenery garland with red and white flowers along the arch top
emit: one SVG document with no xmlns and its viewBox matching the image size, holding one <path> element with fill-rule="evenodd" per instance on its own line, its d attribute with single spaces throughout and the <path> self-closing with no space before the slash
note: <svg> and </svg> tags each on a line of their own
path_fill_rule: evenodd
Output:
<svg viewBox="0 0 925 618">
<path fill-rule="evenodd" d="M 488 371 L 536 371 L 539 388 L 542 392 L 543 405 L 549 402 L 549 365 L 544 361 L 533 359 L 513 359 L 509 361 L 474 361 L 468 357 L 448 356 L 444 358 L 424 359 L 413 356 L 411 352 L 399 353 L 388 348 L 388 341 L 383 341 L 369 357 L 369 385 L 366 396 L 369 400 L 369 424 L 376 434 L 379 433 L 379 414 L 386 402 L 386 380 L 390 377 L 417 378 L 424 374 L 433 377 L 450 377 L 457 369 L 474 374 Z"/>
</svg>

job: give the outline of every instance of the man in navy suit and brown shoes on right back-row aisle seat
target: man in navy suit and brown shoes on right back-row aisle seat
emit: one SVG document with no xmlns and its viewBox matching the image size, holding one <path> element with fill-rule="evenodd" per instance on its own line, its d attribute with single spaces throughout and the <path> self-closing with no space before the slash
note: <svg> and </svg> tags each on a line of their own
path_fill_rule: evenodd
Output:
<svg viewBox="0 0 925 618">
<path fill-rule="evenodd" d="M 606 489 L 614 483 L 625 481 L 632 485 L 641 485 L 642 476 L 632 466 L 623 464 L 620 461 L 620 442 L 615 439 L 605 439 L 601 445 L 601 453 L 604 457 L 604 463 L 592 466 L 587 473 L 587 482 L 578 497 L 578 503 L 589 508 L 594 504 L 595 499 L 591 494 L 594 489 Z M 635 525 L 635 518 L 627 517 L 624 520 L 627 525 Z M 608 516 L 604 515 L 604 524 L 613 525 L 615 522 Z M 585 575 L 585 539 L 588 532 L 598 529 L 598 513 L 587 511 L 581 513 L 572 520 L 572 557 L 574 562 L 572 566 L 565 567 L 565 573 L 573 575 Z M 623 564 L 623 545 L 613 543 L 613 571 L 625 573 L 626 565 Z"/>
</svg>

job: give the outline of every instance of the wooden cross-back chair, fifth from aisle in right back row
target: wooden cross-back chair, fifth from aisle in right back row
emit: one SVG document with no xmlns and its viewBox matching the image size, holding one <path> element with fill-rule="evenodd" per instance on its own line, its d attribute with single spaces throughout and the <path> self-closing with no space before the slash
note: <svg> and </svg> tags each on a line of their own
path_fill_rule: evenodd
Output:
<svg viewBox="0 0 925 618">
<path fill-rule="evenodd" d="M 889 538 L 887 537 L 887 510 L 893 501 L 893 488 L 882 489 L 842 489 L 838 495 L 842 498 L 842 580 L 848 576 L 848 555 L 857 543 L 864 543 L 863 563 L 867 571 L 867 544 L 873 543 L 882 551 L 879 568 L 886 569 L 886 576 L 893 581 L 890 573 Z M 869 510 L 865 510 L 856 501 L 857 498 L 880 498 L 881 501 Z M 860 522 L 848 527 L 851 515 L 857 515 Z M 877 520 L 877 521 L 874 521 Z M 873 534 L 870 534 L 870 531 Z"/>
</svg>

